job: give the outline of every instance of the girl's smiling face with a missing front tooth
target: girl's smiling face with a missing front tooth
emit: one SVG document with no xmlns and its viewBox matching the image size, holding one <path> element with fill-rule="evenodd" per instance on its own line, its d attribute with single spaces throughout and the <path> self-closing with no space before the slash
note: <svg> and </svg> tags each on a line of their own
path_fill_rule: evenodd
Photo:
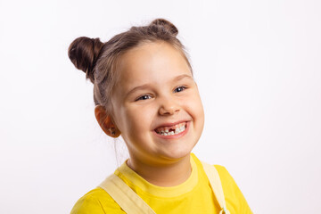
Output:
<svg viewBox="0 0 321 214">
<path fill-rule="evenodd" d="M 204 113 L 181 53 L 165 42 L 139 45 L 121 57 L 118 71 L 113 119 L 131 161 L 161 164 L 189 155 Z"/>
</svg>

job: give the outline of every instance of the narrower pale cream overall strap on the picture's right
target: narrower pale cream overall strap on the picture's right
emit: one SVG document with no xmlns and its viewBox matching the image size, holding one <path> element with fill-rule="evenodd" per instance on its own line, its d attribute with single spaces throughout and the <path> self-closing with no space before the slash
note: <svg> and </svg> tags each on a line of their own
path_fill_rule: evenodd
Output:
<svg viewBox="0 0 321 214">
<path fill-rule="evenodd" d="M 205 162 L 202 162 L 202 166 L 207 177 L 210 180 L 210 186 L 221 208 L 219 214 L 229 214 L 230 212 L 226 209 L 226 201 L 223 193 L 222 184 L 219 179 L 218 170 L 215 169 L 214 166 Z"/>
</svg>

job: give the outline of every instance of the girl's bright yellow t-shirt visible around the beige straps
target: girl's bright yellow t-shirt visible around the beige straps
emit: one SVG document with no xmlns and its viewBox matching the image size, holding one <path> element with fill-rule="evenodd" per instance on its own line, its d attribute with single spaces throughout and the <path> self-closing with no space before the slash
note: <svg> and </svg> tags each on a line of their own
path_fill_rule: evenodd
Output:
<svg viewBox="0 0 321 214">
<path fill-rule="evenodd" d="M 171 187 L 152 185 L 130 169 L 125 162 L 116 169 L 114 174 L 132 188 L 157 214 L 218 213 L 219 205 L 202 168 L 202 162 L 191 154 L 191 164 L 191 176 L 183 184 Z M 231 214 L 252 213 L 233 177 L 224 167 L 215 165 L 215 168 L 221 179 L 227 210 Z M 71 210 L 71 214 L 89 213 L 123 214 L 125 212 L 108 193 L 97 187 L 81 197 Z"/>
</svg>

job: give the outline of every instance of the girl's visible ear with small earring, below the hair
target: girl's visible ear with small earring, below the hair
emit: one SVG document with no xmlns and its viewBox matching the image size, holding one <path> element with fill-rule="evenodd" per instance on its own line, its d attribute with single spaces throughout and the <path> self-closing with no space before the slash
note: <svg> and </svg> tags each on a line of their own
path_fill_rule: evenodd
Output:
<svg viewBox="0 0 321 214">
<path fill-rule="evenodd" d="M 106 133 L 106 135 L 111 137 L 120 136 L 120 131 L 112 121 L 111 114 L 106 111 L 103 105 L 96 105 L 95 118 L 97 119 L 100 127 L 103 129 L 103 132 Z"/>
</svg>

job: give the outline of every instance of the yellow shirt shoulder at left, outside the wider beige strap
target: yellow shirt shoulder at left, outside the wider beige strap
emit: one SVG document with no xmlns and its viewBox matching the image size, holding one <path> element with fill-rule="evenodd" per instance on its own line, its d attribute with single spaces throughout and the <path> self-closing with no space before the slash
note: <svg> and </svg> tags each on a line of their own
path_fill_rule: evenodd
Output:
<svg viewBox="0 0 321 214">
<path fill-rule="evenodd" d="M 97 187 L 78 199 L 70 214 L 124 213 L 102 188 Z"/>
</svg>

